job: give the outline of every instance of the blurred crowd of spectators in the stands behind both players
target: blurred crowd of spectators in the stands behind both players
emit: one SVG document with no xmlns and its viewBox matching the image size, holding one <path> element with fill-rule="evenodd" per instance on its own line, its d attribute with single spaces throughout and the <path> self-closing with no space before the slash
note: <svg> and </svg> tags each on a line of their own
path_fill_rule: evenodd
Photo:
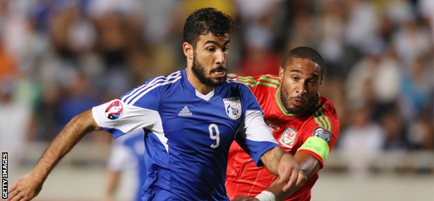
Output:
<svg viewBox="0 0 434 201">
<path fill-rule="evenodd" d="M 239 24 L 232 73 L 278 73 L 296 46 L 323 55 L 348 160 L 433 150 L 432 0 L 0 0 L 1 150 L 51 141 L 93 105 L 184 69 L 182 27 L 202 7 Z"/>
</svg>

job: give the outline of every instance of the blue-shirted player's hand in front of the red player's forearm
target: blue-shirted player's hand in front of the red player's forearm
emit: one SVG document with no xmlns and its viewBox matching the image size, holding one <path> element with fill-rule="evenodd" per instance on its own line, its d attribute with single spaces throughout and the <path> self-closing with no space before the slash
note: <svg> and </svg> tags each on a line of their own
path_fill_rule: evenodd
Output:
<svg viewBox="0 0 434 201">
<path fill-rule="evenodd" d="M 286 184 L 282 191 L 287 191 L 291 186 L 303 182 L 304 174 L 300 171 L 300 166 L 294 157 L 289 153 L 284 153 L 280 159 L 278 167 L 279 178 L 277 184 Z"/>
</svg>

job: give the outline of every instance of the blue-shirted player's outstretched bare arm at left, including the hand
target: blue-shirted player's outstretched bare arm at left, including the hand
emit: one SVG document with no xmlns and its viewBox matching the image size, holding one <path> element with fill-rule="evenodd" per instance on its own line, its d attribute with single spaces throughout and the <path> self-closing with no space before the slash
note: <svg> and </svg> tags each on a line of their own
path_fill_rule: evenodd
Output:
<svg viewBox="0 0 434 201">
<path fill-rule="evenodd" d="M 94 121 L 91 110 L 75 116 L 67 123 L 47 150 L 45 150 L 31 172 L 21 177 L 18 182 L 10 188 L 8 201 L 31 200 L 38 195 L 42 189 L 42 184 L 58 161 L 60 161 L 85 134 L 94 130 L 100 130 L 100 127 Z"/>
</svg>

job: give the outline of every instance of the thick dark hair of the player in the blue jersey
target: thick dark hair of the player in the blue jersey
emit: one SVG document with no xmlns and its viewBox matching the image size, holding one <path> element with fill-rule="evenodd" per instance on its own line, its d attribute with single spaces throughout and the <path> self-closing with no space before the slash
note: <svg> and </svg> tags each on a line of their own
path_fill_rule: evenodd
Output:
<svg viewBox="0 0 434 201">
<path fill-rule="evenodd" d="M 223 37 L 235 26 L 234 19 L 216 8 L 201 8 L 193 12 L 184 24 L 184 42 L 196 46 L 200 35 L 213 33 Z"/>
</svg>

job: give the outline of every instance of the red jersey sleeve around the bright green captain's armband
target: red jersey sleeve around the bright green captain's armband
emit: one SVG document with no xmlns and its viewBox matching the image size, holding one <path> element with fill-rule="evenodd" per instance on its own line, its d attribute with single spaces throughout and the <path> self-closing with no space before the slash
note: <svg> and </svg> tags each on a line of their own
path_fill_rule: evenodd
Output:
<svg viewBox="0 0 434 201">
<path fill-rule="evenodd" d="M 303 125 L 300 131 L 300 140 L 302 140 L 301 144 L 305 145 L 310 137 L 322 139 L 325 141 L 325 143 L 322 143 L 328 149 L 328 153 L 330 153 L 339 137 L 339 119 L 331 103 L 325 104 L 322 110 L 322 112 L 316 113 Z M 318 141 L 318 139 L 316 140 Z M 303 148 L 303 145 L 297 152 L 309 153 L 320 162 L 321 168 L 323 168 L 326 157 L 324 159 L 318 152 L 312 151 L 309 148 Z"/>
</svg>

